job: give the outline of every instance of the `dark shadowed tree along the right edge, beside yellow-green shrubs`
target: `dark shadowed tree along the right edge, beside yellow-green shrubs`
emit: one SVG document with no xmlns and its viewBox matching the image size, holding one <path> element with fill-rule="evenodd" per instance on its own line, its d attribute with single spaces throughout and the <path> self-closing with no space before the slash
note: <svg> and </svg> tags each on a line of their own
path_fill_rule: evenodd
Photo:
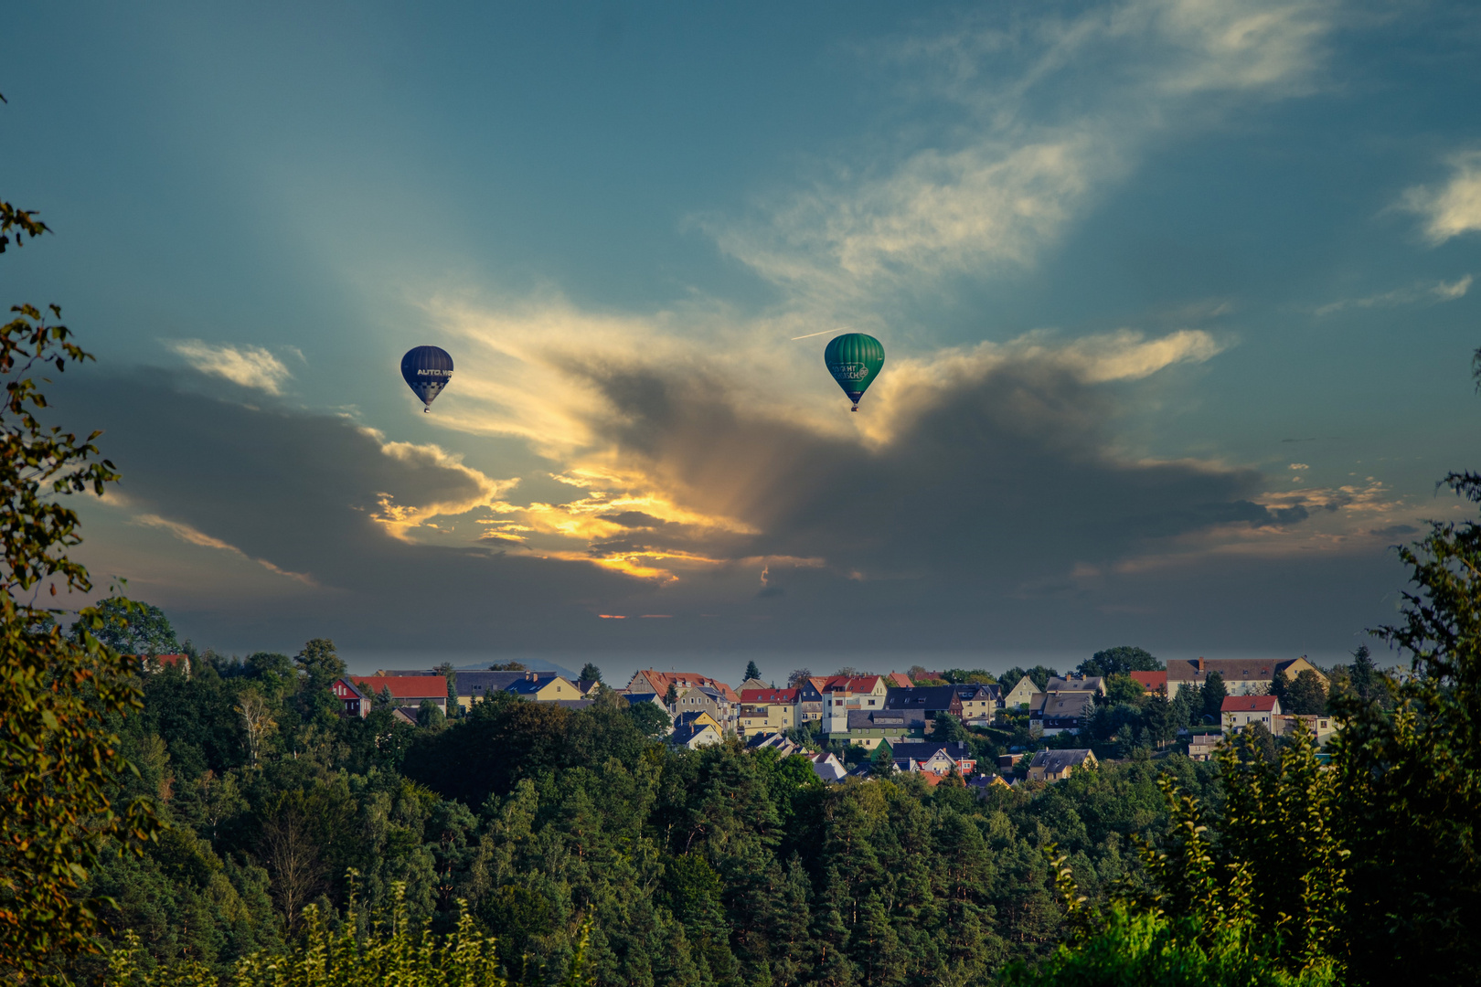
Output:
<svg viewBox="0 0 1481 987">
<path fill-rule="evenodd" d="M 1481 475 L 1445 482 L 1481 503 Z M 1346 935 L 1370 983 L 1416 969 L 1465 983 L 1481 969 L 1481 524 L 1435 522 L 1400 558 L 1417 590 L 1380 633 L 1413 656 L 1413 675 L 1392 712 L 1333 700 L 1348 721 L 1333 755 L 1352 849 Z"/>
</svg>

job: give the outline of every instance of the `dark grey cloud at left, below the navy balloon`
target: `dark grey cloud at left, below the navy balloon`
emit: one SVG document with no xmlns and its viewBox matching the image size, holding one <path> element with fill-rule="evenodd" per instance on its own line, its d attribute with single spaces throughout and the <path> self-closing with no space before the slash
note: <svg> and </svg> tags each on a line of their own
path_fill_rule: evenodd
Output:
<svg viewBox="0 0 1481 987">
<path fill-rule="evenodd" d="M 401 542 L 375 519 L 387 496 L 403 509 L 467 502 L 480 496 L 478 475 L 419 448 L 388 454 L 344 417 L 249 405 L 240 401 L 247 392 L 221 391 L 234 398 L 222 400 L 197 386 L 144 370 L 67 374 L 50 394 L 68 428 L 105 429 L 99 444 L 123 474 L 127 511 L 190 525 L 312 582 L 284 580 L 270 604 L 195 601 L 179 587 L 178 616 L 190 624 L 193 607 L 209 611 L 195 623 L 216 639 L 533 647 L 551 627 L 589 619 L 588 599 L 634 590 L 586 564 Z"/>
</svg>

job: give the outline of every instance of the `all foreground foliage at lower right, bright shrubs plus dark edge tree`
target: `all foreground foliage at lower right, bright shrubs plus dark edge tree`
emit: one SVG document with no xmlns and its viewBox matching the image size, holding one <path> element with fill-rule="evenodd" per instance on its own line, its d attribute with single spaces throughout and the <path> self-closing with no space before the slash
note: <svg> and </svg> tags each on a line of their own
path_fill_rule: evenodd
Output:
<svg viewBox="0 0 1481 987">
<path fill-rule="evenodd" d="M 1475 366 L 1481 382 L 1481 351 Z M 1481 475 L 1444 484 L 1481 505 Z M 1228 935 L 1260 959 L 1260 977 L 1288 983 L 1475 980 L 1481 524 L 1432 522 L 1400 558 L 1414 589 L 1403 621 L 1376 633 L 1410 654 L 1411 675 L 1379 688 L 1360 653 L 1330 697 L 1345 722 L 1331 768 L 1303 737 L 1272 767 L 1246 731 L 1220 756 L 1222 818 L 1169 789 L 1177 826 L 1170 852 L 1148 851 L 1151 888 L 1123 889 L 1103 913 L 1072 907 L 1072 943 L 1037 974 L 1017 969 L 1016 983 L 1237 983 L 1192 972 Z"/>
</svg>

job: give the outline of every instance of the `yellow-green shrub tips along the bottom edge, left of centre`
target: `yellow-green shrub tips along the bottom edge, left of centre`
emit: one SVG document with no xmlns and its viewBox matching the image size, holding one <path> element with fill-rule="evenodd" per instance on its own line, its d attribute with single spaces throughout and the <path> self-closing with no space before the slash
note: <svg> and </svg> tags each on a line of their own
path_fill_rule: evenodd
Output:
<svg viewBox="0 0 1481 987">
<path fill-rule="evenodd" d="M 575 943 L 566 975 L 544 980 L 530 963 L 509 963 L 498 954 L 498 943 L 484 935 L 468 903 L 458 903 L 458 923 L 447 935 L 435 935 L 428 922 L 415 922 L 406 904 L 406 885 L 392 892 L 391 907 L 366 919 L 351 900 L 338 922 L 326 922 L 318 906 L 304 912 L 304 934 L 286 951 L 259 951 L 237 962 L 235 987 L 584 987 L 586 929 Z M 526 957 L 527 959 L 527 957 Z M 504 971 L 517 968 L 509 980 Z M 113 951 L 104 987 L 218 987 L 212 968 L 198 962 L 175 966 L 148 965 L 136 935 Z"/>
</svg>

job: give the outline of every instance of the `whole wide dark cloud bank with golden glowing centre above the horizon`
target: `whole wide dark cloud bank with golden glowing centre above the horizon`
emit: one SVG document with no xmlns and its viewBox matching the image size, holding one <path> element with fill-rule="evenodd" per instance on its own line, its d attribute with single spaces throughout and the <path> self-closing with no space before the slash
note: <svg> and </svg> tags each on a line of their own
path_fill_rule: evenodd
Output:
<svg viewBox="0 0 1481 987">
<path fill-rule="evenodd" d="M 99 571 L 216 647 L 330 636 L 416 651 L 431 635 L 465 651 L 652 653 L 977 647 L 985 633 L 1060 647 L 1106 607 L 1151 607 L 1158 627 L 1211 619 L 1203 579 L 1247 556 L 1294 564 L 1297 543 L 1340 555 L 1352 512 L 1364 531 L 1405 521 L 1371 484 L 1277 496 L 1256 471 L 1115 451 L 1139 380 L 1203 345 L 1038 336 L 921 357 L 859 414 L 829 397 L 840 426 L 754 404 L 724 358 L 555 352 L 551 373 L 600 413 L 536 410 L 582 419 L 588 439 L 518 485 L 441 447 L 163 371 L 90 370 L 56 385 L 55 407 L 71 428 L 105 426 L 124 475 L 84 512 L 89 545 L 111 524 L 167 536 Z M 126 400 L 141 389 L 154 400 Z M 887 416 L 900 420 L 878 434 L 862 422 Z M 234 559 L 265 582 L 212 576 Z M 1241 599 L 1281 585 L 1248 580 Z M 1053 630 L 1022 636 L 1040 624 Z"/>
</svg>

